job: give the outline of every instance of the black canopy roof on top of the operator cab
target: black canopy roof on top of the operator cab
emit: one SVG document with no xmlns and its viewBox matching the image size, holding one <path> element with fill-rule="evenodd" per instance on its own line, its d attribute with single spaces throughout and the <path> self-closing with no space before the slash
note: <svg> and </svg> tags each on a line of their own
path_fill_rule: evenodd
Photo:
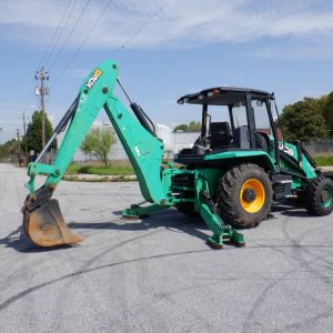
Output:
<svg viewBox="0 0 333 333">
<path fill-rule="evenodd" d="M 181 97 L 178 100 L 179 104 L 210 104 L 210 105 L 236 105 L 244 103 L 245 94 L 251 94 L 253 98 L 273 98 L 274 93 L 262 90 L 216 87 L 202 90 L 200 92 L 190 93 Z"/>
</svg>

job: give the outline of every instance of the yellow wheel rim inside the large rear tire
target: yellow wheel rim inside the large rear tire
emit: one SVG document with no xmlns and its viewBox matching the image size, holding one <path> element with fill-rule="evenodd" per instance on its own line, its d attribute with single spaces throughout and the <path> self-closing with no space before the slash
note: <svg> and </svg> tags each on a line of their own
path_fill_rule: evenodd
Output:
<svg viewBox="0 0 333 333">
<path fill-rule="evenodd" d="M 243 208 L 249 213 L 259 212 L 266 199 L 265 189 L 261 181 L 251 178 L 246 180 L 240 191 L 240 202 Z"/>
</svg>

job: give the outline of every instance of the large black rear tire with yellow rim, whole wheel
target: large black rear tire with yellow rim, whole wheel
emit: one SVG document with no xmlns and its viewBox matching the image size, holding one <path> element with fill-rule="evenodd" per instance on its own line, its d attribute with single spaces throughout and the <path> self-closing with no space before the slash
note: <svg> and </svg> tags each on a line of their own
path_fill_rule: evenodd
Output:
<svg viewBox="0 0 333 333">
<path fill-rule="evenodd" d="M 271 211 L 273 190 L 266 172 L 255 164 L 229 170 L 216 189 L 221 215 L 234 226 L 253 228 Z"/>
</svg>

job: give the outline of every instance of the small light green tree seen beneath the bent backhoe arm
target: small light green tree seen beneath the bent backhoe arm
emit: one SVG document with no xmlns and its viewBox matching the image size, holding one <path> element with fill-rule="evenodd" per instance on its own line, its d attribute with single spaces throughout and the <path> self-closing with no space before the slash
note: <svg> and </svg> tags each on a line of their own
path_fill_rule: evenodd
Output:
<svg viewBox="0 0 333 333">
<path fill-rule="evenodd" d="M 115 135 L 111 128 L 93 128 L 85 135 L 80 149 L 85 154 L 97 157 L 107 168 L 109 164 L 109 153 L 113 143 L 115 143 Z"/>
</svg>

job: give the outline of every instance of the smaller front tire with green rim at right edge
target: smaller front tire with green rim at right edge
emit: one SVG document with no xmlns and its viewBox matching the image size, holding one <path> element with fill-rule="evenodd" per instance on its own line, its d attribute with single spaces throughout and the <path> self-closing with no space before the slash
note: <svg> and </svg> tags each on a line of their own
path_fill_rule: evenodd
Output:
<svg viewBox="0 0 333 333">
<path fill-rule="evenodd" d="M 333 210 L 333 182 L 319 175 L 303 193 L 305 209 L 315 216 L 331 214 Z"/>
</svg>

